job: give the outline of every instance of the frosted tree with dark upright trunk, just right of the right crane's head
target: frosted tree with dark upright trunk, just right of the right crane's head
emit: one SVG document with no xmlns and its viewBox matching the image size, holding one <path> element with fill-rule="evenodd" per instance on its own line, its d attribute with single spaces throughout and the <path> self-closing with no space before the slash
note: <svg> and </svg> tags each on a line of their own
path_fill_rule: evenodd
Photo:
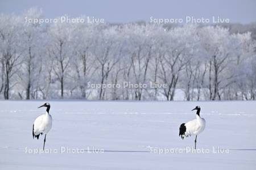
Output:
<svg viewBox="0 0 256 170">
<path fill-rule="evenodd" d="M 236 39 L 226 28 L 209 26 L 201 28 L 200 42 L 209 60 L 209 99 L 221 100 L 221 90 L 233 83 L 234 79 L 234 74 L 228 68 L 234 64 Z"/>
</svg>

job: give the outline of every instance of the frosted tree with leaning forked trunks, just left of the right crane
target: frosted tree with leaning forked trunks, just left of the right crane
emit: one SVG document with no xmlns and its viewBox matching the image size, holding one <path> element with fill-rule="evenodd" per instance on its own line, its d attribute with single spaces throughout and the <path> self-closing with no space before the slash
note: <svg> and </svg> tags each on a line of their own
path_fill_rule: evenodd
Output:
<svg viewBox="0 0 256 170">
<path fill-rule="evenodd" d="M 188 25 L 183 28 L 174 28 L 167 33 L 168 42 L 163 56 L 160 58 L 159 78 L 167 84 L 164 89 L 166 100 L 174 100 L 175 90 L 181 71 L 191 61 L 194 46 L 197 44 L 195 27 Z"/>
</svg>

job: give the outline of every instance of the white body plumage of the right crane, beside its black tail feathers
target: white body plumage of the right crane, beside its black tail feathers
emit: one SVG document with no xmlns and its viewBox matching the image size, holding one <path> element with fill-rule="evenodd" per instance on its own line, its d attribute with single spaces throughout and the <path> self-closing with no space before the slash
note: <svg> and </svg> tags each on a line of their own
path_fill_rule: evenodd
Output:
<svg viewBox="0 0 256 170">
<path fill-rule="evenodd" d="M 190 135 L 198 135 L 205 128 L 205 120 L 196 114 L 196 118 L 188 121 L 186 124 L 186 131 L 183 137 L 188 137 Z"/>
</svg>

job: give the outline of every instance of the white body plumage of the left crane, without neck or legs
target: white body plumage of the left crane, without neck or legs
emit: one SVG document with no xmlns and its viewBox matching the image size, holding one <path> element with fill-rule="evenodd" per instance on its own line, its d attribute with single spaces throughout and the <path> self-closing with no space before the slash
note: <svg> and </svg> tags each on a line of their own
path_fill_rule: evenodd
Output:
<svg viewBox="0 0 256 170">
<path fill-rule="evenodd" d="M 47 134 L 52 128 L 52 116 L 48 112 L 42 114 L 34 121 L 34 134 Z"/>
</svg>

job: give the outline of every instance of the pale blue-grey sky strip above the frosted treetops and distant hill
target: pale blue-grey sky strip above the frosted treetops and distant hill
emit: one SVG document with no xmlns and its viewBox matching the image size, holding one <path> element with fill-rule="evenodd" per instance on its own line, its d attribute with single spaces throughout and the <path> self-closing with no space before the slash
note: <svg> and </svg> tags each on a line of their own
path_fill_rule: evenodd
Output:
<svg viewBox="0 0 256 170">
<path fill-rule="evenodd" d="M 106 22 L 135 22 L 154 18 L 228 18 L 232 23 L 256 22 L 256 1 L 139 1 L 139 0 L 94 0 L 94 1 L 35 1 L 35 0 L 0 0 L 0 13 L 20 14 L 31 7 L 42 8 L 46 18 L 55 18 L 68 14 L 71 17 L 80 15 L 104 18 Z"/>
</svg>

